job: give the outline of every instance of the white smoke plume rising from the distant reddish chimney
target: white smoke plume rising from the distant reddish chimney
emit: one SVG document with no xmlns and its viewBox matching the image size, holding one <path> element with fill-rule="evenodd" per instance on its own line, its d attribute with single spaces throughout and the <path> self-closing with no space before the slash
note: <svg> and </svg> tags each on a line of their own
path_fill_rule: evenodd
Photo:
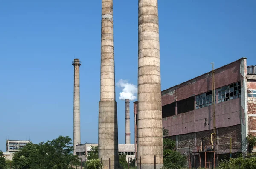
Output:
<svg viewBox="0 0 256 169">
<path fill-rule="evenodd" d="M 133 101 L 137 99 L 138 88 L 134 84 L 128 83 L 128 80 L 120 79 L 116 85 L 122 89 L 120 100 L 130 99 L 130 101 Z"/>
</svg>

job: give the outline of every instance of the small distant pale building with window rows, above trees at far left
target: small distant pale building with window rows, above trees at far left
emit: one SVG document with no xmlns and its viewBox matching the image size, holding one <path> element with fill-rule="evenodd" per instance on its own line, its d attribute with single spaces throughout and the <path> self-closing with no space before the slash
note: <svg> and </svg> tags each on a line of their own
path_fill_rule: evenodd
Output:
<svg viewBox="0 0 256 169">
<path fill-rule="evenodd" d="M 6 152 L 18 152 L 28 143 L 30 140 L 6 140 Z"/>
</svg>

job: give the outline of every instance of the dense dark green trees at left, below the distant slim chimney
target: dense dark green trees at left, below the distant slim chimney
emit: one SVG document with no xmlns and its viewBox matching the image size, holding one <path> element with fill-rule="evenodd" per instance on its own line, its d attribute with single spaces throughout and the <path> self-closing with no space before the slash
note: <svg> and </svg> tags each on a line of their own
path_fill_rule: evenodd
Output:
<svg viewBox="0 0 256 169">
<path fill-rule="evenodd" d="M 71 138 L 59 136 L 57 139 L 29 143 L 13 156 L 15 169 L 69 169 L 70 163 L 79 164 L 79 158 L 73 155 Z"/>
</svg>

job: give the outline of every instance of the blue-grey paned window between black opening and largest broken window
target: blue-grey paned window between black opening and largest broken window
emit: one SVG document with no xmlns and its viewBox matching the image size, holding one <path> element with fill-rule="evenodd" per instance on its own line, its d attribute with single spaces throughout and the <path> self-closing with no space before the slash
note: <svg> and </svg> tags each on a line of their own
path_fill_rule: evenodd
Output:
<svg viewBox="0 0 256 169">
<path fill-rule="evenodd" d="M 196 96 L 195 108 L 199 109 L 202 107 L 212 105 L 212 98 L 212 91 Z"/>
</svg>

